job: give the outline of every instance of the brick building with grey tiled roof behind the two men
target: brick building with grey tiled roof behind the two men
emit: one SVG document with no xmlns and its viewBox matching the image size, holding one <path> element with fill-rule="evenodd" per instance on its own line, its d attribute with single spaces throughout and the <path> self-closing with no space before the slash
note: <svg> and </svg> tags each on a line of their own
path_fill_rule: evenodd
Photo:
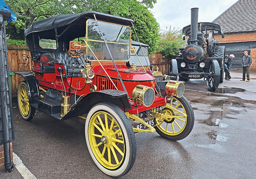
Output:
<svg viewBox="0 0 256 179">
<path fill-rule="evenodd" d="M 226 46 L 226 55 L 234 54 L 233 70 L 242 70 L 244 51 L 252 56 L 250 70 L 256 71 L 256 0 L 239 0 L 214 19 L 225 34 L 215 35 L 220 45 Z"/>
</svg>

